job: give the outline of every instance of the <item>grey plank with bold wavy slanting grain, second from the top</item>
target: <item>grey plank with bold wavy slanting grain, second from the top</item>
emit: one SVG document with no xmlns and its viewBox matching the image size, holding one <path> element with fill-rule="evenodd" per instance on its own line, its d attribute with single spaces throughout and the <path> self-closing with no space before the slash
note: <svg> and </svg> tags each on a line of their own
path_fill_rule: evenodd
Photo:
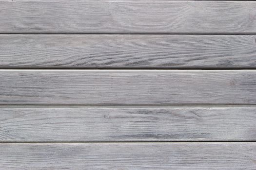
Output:
<svg viewBox="0 0 256 170">
<path fill-rule="evenodd" d="M 0 68 L 256 68 L 255 35 L 2 34 Z"/>
</svg>

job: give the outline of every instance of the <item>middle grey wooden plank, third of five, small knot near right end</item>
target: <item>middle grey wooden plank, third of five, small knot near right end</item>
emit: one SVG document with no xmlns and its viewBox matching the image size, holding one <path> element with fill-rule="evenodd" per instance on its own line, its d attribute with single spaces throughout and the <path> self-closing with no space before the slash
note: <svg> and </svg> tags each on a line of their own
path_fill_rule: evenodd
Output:
<svg viewBox="0 0 256 170">
<path fill-rule="evenodd" d="M 255 70 L 2 70 L 0 104 L 256 104 Z"/>
</svg>

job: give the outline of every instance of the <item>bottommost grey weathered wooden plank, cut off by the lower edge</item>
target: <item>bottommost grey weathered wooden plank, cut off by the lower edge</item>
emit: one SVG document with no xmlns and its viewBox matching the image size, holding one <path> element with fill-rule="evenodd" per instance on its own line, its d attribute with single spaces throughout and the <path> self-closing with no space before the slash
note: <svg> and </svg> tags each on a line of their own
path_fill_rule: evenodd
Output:
<svg viewBox="0 0 256 170">
<path fill-rule="evenodd" d="M 254 142 L 0 143 L 4 170 L 255 170 Z"/>
</svg>

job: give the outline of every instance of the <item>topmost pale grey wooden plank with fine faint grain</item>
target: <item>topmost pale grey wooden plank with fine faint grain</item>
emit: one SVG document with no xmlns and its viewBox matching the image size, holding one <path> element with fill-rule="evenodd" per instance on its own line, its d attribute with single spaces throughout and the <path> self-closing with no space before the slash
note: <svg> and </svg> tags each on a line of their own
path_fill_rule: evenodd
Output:
<svg viewBox="0 0 256 170">
<path fill-rule="evenodd" d="M 0 33 L 255 34 L 254 1 L 0 0 Z"/>
</svg>

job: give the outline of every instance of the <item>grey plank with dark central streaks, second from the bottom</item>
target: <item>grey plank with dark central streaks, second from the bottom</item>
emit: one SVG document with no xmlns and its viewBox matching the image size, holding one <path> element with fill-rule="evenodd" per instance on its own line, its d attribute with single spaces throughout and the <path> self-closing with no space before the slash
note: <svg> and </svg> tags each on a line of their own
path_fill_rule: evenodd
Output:
<svg viewBox="0 0 256 170">
<path fill-rule="evenodd" d="M 248 106 L 4 106 L 0 141 L 256 141 L 255 122 Z"/>
</svg>

